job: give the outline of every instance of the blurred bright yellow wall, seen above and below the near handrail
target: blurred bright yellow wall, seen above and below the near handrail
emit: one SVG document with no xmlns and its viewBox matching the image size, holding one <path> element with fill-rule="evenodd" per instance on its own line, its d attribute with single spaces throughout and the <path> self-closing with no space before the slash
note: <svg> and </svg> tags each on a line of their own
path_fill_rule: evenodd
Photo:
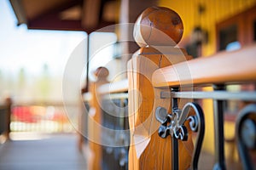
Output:
<svg viewBox="0 0 256 170">
<path fill-rule="evenodd" d="M 201 28 L 208 31 L 209 41 L 202 47 L 202 55 L 207 56 L 216 52 L 216 23 L 252 7 L 255 3 L 256 0 L 160 0 L 159 5 L 172 8 L 180 15 L 184 26 L 183 37 L 189 37 L 195 26 L 201 26 Z M 201 15 L 197 12 L 199 4 L 205 7 L 205 12 Z M 205 88 L 205 90 L 212 90 L 212 88 Z M 213 153 L 212 100 L 206 99 L 203 101 L 203 111 L 205 112 L 207 126 L 203 148 Z M 225 128 L 230 130 L 225 134 L 234 133 L 234 127 L 232 126 L 230 124 L 225 125 Z"/>
</svg>

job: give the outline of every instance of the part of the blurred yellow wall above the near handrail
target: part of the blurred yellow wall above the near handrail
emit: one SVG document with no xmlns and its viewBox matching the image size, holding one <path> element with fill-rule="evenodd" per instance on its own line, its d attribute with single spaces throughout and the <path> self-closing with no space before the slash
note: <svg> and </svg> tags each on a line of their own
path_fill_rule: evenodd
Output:
<svg viewBox="0 0 256 170">
<path fill-rule="evenodd" d="M 188 37 L 195 26 L 201 26 L 209 33 L 209 42 L 203 46 L 202 55 L 216 51 L 215 25 L 234 14 L 252 7 L 256 0 L 160 0 L 159 5 L 172 8 L 183 20 L 184 34 Z M 205 12 L 198 13 L 198 6 L 205 7 Z"/>
</svg>

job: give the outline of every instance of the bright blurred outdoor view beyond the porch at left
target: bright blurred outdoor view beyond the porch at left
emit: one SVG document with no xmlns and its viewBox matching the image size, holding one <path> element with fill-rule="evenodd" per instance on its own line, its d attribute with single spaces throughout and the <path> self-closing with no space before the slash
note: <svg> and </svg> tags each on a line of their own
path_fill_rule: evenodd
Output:
<svg viewBox="0 0 256 170">
<path fill-rule="evenodd" d="M 3 23 L 0 31 L 0 99 L 2 103 L 6 98 L 13 102 L 10 130 L 74 132 L 74 127 L 78 126 L 79 88 L 70 96 L 67 107 L 73 107 L 75 111 L 67 117 L 62 102 L 62 79 L 68 59 L 78 53 L 80 56 L 73 70 L 78 65 L 83 66 L 85 72 L 84 77 L 81 73 L 81 79 L 85 82 L 88 34 L 85 31 L 27 29 L 26 23 L 17 26 L 16 11 L 8 0 L 1 1 L 0 8 Z M 113 43 L 117 40 L 114 33 L 99 32 L 90 37 L 92 72 L 112 59 Z M 102 54 L 106 57 L 99 60 Z M 73 75 L 69 77 L 72 79 Z M 90 75 L 90 79 L 93 78 Z"/>
</svg>

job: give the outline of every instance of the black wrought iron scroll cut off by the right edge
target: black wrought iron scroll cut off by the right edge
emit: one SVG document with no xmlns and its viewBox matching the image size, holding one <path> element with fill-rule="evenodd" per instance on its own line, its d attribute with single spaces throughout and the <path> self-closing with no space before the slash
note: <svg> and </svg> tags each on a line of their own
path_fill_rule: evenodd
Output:
<svg viewBox="0 0 256 170">
<path fill-rule="evenodd" d="M 247 105 L 236 120 L 236 144 L 243 169 L 255 169 L 249 151 L 256 150 L 256 105 Z"/>
</svg>

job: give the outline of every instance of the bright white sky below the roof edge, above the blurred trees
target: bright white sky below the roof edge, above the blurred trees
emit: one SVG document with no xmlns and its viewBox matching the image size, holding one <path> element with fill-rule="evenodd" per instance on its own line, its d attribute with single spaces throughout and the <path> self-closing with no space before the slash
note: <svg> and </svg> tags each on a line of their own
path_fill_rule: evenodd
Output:
<svg viewBox="0 0 256 170">
<path fill-rule="evenodd" d="M 0 1 L 0 23 L 0 69 L 11 74 L 25 68 L 37 75 L 44 64 L 52 74 L 61 74 L 68 56 L 87 36 L 83 31 L 38 31 L 17 26 L 8 0 Z"/>
</svg>

